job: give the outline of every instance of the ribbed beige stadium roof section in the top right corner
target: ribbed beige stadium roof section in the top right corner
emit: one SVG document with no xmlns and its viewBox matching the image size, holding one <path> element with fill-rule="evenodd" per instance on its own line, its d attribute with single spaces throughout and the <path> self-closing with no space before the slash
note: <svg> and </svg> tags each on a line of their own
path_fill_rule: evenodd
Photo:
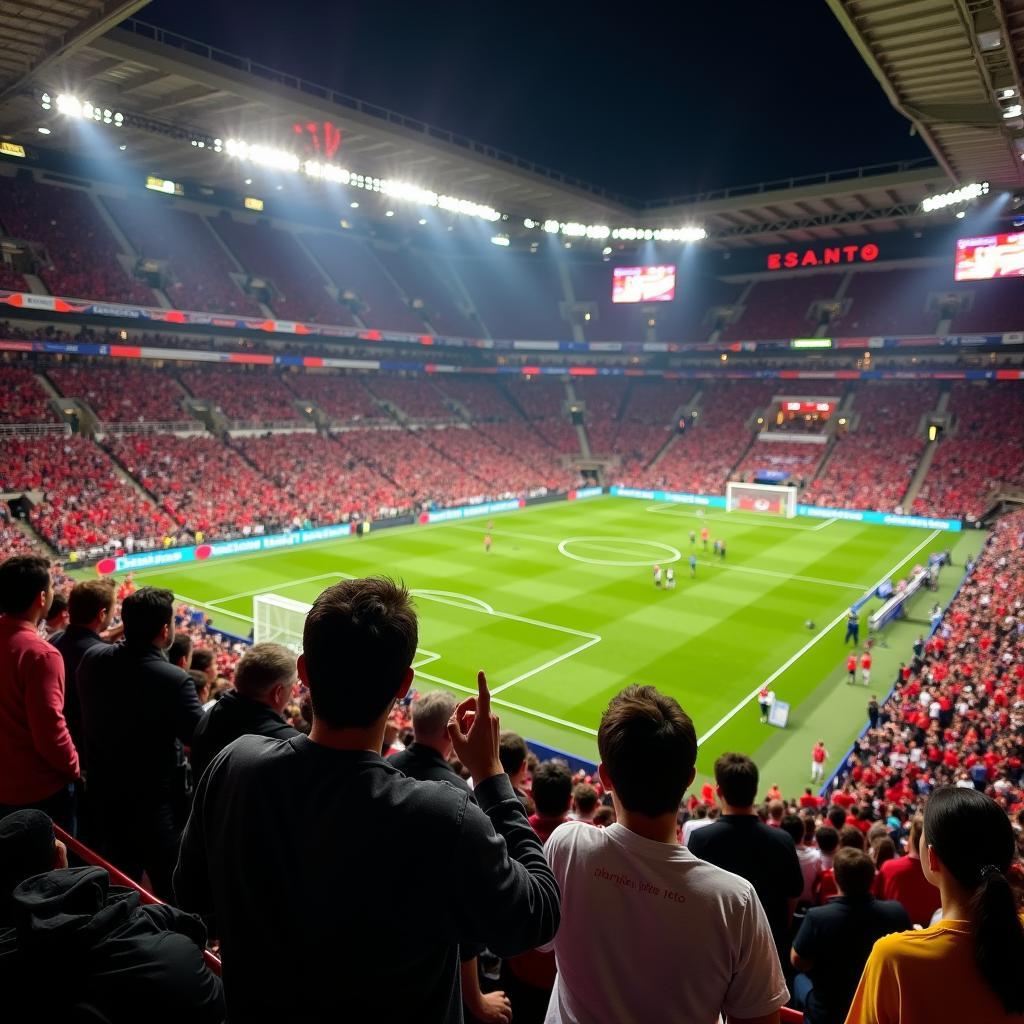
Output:
<svg viewBox="0 0 1024 1024">
<path fill-rule="evenodd" d="M 1024 0 L 828 3 L 950 178 L 1024 185 Z"/>
</svg>

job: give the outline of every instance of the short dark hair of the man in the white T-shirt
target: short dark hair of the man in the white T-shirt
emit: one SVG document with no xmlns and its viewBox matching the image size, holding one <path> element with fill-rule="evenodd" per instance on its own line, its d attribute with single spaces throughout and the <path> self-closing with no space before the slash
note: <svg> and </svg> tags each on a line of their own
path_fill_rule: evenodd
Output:
<svg viewBox="0 0 1024 1024">
<path fill-rule="evenodd" d="M 627 686 L 601 716 L 597 749 L 628 810 L 648 817 L 675 812 L 690 783 L 697 734 L 675 697 L 653 686 Z"/>
</svg>

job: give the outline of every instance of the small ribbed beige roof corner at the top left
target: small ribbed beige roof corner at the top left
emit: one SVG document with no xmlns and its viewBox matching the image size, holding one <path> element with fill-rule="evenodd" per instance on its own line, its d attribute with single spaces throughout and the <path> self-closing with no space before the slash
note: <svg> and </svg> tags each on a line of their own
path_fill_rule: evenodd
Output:
<svg viewBox="0 0 1024 1024">
<path fill-rule="evenodd" d="M 0 98 L 148 0 L 0 0 Z"/>
</svg>

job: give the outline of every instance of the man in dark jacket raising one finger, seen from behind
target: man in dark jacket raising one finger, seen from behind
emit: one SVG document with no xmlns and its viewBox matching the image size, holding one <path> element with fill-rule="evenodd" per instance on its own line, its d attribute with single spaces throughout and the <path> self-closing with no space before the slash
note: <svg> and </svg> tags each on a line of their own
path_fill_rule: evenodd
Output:
<svg viewBox="0 0 1024 1024">
<path fill-rule="evenodd" d="M 501 956 L 558 927 L 558 886 L 498 757 L 498 719 L 478 696 L 449 724 L 479 806 L 407 778 L 380 756 L 409 692 L 416 613 L 388 580 L 346 580 L 306 616 L 299 677 L 309 736 L 243 736 L 203 775 L 174 872 L 179 906 L 213 912 L 228 1016 L 239 1020 L 462 1021 L 460 945 Z M 409 872 L 418 928 L 395 928 Z M 291 983 L 274 982 L 287 964 Z"/>
</svg>

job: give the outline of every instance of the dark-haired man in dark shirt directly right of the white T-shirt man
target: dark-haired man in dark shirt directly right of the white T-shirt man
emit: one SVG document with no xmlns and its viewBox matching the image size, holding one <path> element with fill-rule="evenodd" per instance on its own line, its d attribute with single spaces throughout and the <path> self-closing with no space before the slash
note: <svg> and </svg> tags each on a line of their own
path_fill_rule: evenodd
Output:
<svg viewBox="0 0 1024 1024">
<path fill-rule="evenodd" d="M 715 762 L 722 816 L 690 836 L 690 852 L 746 879 L 764 907 L 785 973 L 790 967 L 790 925 L 804 891 L 797 847 L 782 828 L 769 828 L 754 810 L 758 766 L 743 754 L 723 754 Z"/>
</svg>

